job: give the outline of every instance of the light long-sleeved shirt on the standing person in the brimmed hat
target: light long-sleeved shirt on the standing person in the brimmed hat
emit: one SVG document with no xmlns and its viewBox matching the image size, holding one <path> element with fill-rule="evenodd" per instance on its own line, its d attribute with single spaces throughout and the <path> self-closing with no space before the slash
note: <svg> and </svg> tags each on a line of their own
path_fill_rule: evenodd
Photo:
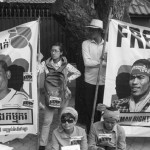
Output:
<svg viewBox="0 0 150 150">
<path fill-rule="evenodd" d="M 99 67 L 94 67 L 100 64 L 102 55 L 103 43 L 97 44 L 95 41 L 86 40 L 82 43 L 82 56 L 85 65 L 85 82 L 96 85 Z M 107 48 L 105 50 L 107 52 Z M 106 63 L 106 62 L 105 62 Z M 99 85 L 105 84 L 106 65 L 102 65 L 100 71 Z"/>
</svg>

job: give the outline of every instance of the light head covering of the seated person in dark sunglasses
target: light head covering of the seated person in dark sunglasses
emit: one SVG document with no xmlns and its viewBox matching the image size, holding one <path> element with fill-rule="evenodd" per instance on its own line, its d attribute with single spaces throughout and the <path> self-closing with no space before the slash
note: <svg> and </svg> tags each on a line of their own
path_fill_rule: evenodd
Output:
<svg viewBox="0 0 150 150">
<path fill-rule="evenodd" d="M 62 110 L 60 117 L 63 114 L 67 114 L 70 113 L 71 115 L 73 115 L 75 117 L 75 121 L 77 122 L 78 120 L 78 112 L 73 108 L 73 107 L 66 107 Z"/>
</svg>

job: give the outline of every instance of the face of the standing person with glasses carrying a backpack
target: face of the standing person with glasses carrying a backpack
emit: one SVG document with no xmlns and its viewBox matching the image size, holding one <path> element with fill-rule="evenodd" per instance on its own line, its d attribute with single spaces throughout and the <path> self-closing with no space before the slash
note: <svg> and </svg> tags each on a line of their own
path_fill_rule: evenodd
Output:
<svg viewBox="0 0 150 150">
<path fill-rule="evenodd" d="M 60 51 L 59 46 L 52 46 L 52 49 L 51 49 L 52 59 L 54 59 L 54 60 L 59 59 L 61 57 L 62 53 L 63 52 Z"/>
</svg>

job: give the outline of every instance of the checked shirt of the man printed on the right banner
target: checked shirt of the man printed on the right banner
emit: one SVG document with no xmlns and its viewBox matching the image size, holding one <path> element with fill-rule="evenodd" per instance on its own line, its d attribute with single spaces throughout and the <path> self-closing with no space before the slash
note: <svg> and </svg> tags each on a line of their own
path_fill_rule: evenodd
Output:
<svg viewBox="0 0 150 150">
<path fill-rule="evenodd" d="M 131 100 L 131 96 L 129 96 L 127 98 L 119 99 L 119 100 L 114 100 L 112 102 L 112 106 L 119 109 L 119 111 L 122 113 L 130 112 L 130 109 L 129 109 L 130 100 Z M 150 107 L 150 100 L 148 101 L 148 103 L 145 104 L 145 106 L 142 108 L 142 110 L 140 112 L 146 112 L 146 110 L 149 107 Z"/>
</svg>

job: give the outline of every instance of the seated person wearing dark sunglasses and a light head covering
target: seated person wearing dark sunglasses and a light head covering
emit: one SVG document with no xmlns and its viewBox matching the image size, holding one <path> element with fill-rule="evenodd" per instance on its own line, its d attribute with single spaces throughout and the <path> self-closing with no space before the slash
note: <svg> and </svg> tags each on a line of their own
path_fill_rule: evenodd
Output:
<svg viewBox="0 0 150 150">
<path fill-rule="evenodd" d="M 80 145 L 81 150 L 87 150 L 87 136 L 83 128 L 76 126 L 78 113 L 72 107 L 63 109 L 60 115 L 60 126 L 53 131 L 52 149 L 61 150 L 62 147 Z"/>
</svg>

